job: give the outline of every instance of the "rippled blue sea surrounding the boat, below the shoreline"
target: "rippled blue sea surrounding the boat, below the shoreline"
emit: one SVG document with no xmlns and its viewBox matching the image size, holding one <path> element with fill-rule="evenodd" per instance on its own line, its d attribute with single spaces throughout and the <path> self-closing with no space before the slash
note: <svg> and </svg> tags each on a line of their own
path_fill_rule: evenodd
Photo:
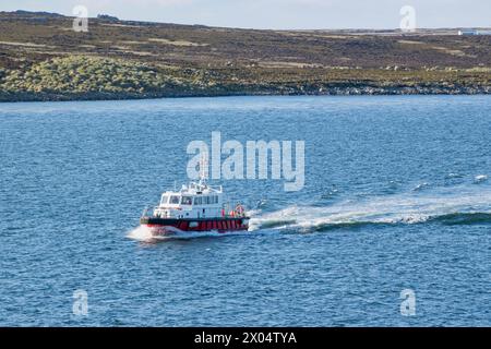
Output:
<svg viewBox="0 0 491 349">
<path fill-rule="evenodd" d="M 146 241 L 213 131 L 304 141 L 303 189 L 211 181 L 250 231 Z M 0 326 L 490 326 L 490 131 L 491 96 L 0 104 Z"/>
</svg>

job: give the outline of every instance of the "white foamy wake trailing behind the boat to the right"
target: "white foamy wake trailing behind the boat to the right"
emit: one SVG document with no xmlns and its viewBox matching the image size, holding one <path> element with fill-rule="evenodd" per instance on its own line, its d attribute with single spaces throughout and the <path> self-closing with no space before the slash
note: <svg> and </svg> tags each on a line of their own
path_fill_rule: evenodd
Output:
<svg viewBox="0 0 491 349">
<path fill-rule="evenodd" d="M 298 228 L 309 230 L 327 225 L 418 224 L 454 214 L 491 214 L 491 189 L 479 185 L 444 188 L 429 192 L 344 201 L 331 206 L 291 205 L 253 217 L 250 230 Z"/>
</svg>

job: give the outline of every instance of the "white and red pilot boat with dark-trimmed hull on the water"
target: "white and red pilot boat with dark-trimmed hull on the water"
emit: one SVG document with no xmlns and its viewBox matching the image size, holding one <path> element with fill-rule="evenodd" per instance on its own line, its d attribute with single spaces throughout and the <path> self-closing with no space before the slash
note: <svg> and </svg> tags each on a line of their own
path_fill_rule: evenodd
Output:
<svg viewBox="0 0 491 349">
<path fill-rule="evenodd" d="M 249 217 L 241 204 L 230 207 L 220 186 L 211 186 L 204 179 L 166 191 L 160 203 L 145 208 L 140 218 L 153 236 L 216 231 L 220 233 L 248 230 Z"/>
</svg>

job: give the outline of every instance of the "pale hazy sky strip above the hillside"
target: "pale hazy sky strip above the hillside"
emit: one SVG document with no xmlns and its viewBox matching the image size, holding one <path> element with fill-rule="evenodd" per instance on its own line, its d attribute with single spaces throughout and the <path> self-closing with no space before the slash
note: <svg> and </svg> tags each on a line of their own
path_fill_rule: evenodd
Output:
<svg viewBox="0 0 491 349">
<path fill-rule="evenodd" d="M 491 26 L 491 0 L 1 0 L 0 11 L 116 15 L 183 24 L 253 28 L 396 28 L 412 5 L 417 27 Z"/>
</svg>

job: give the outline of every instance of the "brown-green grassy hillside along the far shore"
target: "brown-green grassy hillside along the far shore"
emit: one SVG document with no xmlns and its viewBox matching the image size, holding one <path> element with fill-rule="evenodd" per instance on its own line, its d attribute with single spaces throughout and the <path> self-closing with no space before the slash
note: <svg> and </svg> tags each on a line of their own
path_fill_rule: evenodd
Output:
<svg viewBox="0 0 491 349">
<path fill-rule="evenodd" d="M 491 36 L 253 31 L 0 12 L 0 100 L 491 93 Z"/>
</svg>

